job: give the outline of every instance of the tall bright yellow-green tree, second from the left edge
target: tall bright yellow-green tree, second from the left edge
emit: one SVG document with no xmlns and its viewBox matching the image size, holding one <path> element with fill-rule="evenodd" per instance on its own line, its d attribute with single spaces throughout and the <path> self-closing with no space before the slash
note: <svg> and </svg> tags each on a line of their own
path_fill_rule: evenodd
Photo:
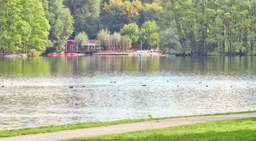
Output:
<svg viewBox="0 0 256 141">
<path fill-rule="evenodd" d="M 22 38 L 22 45 L 26 47 L 26 53 L 32 48 L 43 53 L 50 43 L 50 40 L 47 40 L 50 25 L 45 17 L 43 4 L 39 0 L 21 0 L 20 5 L 23 6 L 21 18 L 29 26 L 26 37 Z"/>
</svg>

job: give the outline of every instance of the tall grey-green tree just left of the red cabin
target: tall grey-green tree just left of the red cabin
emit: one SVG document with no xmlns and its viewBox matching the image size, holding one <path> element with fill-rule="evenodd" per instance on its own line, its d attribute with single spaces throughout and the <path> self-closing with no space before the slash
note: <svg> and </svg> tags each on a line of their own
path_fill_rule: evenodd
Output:
<svg viewBox="0 0 256 141">
<path fill-rule="evenodd" d="M 74 31 L 74 19 L 70 10 L 63 5 L 64 0 L 41 0 L 46 17 L 51 25 L 48 39 L 51 40 L 48 52 L 63 51 L 66 40 Z"/>
</svg>

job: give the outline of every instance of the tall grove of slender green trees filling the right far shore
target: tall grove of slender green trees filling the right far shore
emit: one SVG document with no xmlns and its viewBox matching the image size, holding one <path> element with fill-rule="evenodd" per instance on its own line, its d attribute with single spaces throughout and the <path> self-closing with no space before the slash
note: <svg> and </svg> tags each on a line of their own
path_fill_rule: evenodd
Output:
<svg viewBox="0 0 256 141">
<path fill-rule="evenodd" d="M 158 0 L 163 8 L 158 13 L 159 23 L 164 30 L 171 21 L 176 21 L 182 45 L 183 41 L 189 41 L 196 54 L 217 51 L 242 55 L 255 48 L 255 3 L 249 0 Z"/>
</svg>

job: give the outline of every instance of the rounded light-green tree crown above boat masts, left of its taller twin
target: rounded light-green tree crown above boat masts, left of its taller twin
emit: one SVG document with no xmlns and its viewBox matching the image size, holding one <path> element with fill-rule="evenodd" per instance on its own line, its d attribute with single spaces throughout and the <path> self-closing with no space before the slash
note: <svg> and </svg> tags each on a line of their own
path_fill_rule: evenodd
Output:
<svg viewBox="0 0 256 141">
<path fill-rule="evenodd" d="M 139 39 L 139 27 L 136 23 L 124 25 L 124 27 L 120 30 L 120 33 L 122 36 L 128 36 L 133 43 L 136 43 Z"/>
</svg>

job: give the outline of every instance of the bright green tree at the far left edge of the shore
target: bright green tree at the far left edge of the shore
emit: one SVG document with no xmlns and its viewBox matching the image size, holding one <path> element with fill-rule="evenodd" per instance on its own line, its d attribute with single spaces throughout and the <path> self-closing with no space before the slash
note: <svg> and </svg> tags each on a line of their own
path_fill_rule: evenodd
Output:
<svg viewBox="0 0 256 141">
<path fill-rule="evenodd" d="M 19 3 L 19 0 L 2 0 L 0 3 L 0 49 L 8 54 L 19 49 L 22 26 L 27 29 L 20 17 L 22 6 Z"/>
</svg>

